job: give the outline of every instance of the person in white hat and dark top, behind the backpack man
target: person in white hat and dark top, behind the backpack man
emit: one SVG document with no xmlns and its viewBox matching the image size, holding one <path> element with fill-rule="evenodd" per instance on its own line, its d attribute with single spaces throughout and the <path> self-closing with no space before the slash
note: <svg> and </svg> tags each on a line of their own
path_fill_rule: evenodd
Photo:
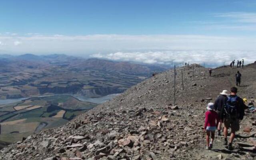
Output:
<svg viewBox="0 0 256 160">
<path fill-rule="evenodd" d="M 226 104 L 226 101 L 228 100 L 228 91 L 227 90 L 223 90 L 220 93 L 220 96 L 218 96 L 214 102 L 214 110 L 216 110 L 217 114 L 218 114 L 218 135 L 220 136 L 220 132 L 221 132 L 221 125 L 223 122 L 223 110 L 224 110 L 224 106 Z"/>
</svg>

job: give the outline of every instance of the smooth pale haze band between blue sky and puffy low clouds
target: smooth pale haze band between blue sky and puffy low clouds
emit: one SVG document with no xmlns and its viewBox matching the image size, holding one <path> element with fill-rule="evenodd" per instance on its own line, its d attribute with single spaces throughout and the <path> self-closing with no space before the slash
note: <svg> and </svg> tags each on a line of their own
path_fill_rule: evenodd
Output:
<svg viewBox="0 0 256 160">
<path fill-rule="evenodd" d="M 89 55 L 104 52 L 159 50 L 256 50 L 256 38 L 201 35 L 26 35 L 0 36 L 10 53 L 64 53 Z M 20 45 L 22 43 L 22 45 Z M 20 45 L 19 48 L 14 45 Z"/>
</svg>

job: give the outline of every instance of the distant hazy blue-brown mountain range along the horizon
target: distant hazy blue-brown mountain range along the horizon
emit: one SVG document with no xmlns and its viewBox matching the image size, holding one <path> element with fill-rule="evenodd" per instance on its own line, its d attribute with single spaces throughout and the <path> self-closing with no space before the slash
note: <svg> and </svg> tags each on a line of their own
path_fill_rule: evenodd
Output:
<svg viewBox="0 0 256 160">
<path fill-rule="evenodd" d="M 45 68 L 48 66 L 63 66 L 78 70 L 94 69 L 108 72 L 130 72 L 134 74 L 150 74 L 167 70 L 167 66 L 135 64 L 132 62 L 117 62 L 98 58 L 80 58 L 65 54 L 34 55 L 22 54 L 20 56 L 0 55 L 0 72 L 15 72 L 23 68 Z"/>
</svg>

